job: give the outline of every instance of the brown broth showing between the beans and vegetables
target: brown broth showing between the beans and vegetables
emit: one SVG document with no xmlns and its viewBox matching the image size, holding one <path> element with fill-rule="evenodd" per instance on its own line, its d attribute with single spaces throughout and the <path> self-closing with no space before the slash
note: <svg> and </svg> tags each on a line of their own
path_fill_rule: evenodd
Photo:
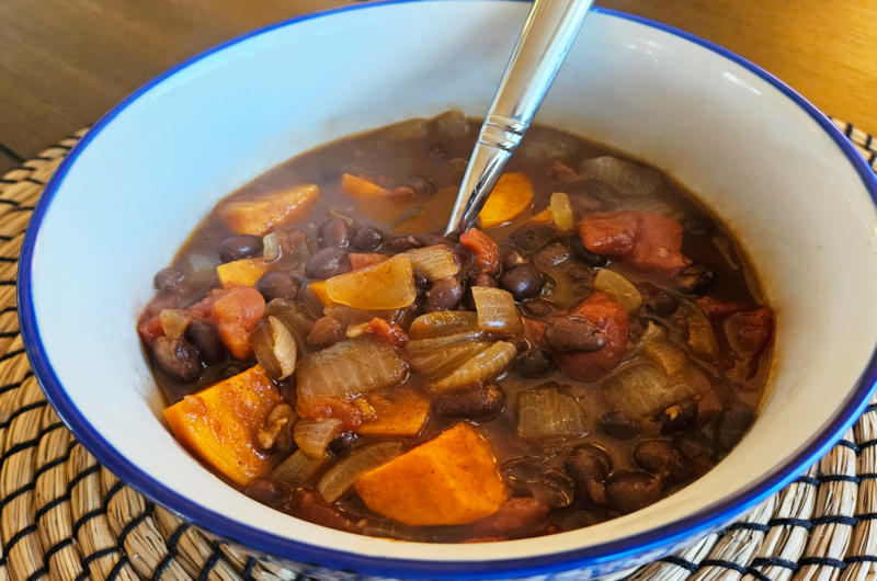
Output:
<svg viewBox="0 0 877 581">
<path fill-rule="evenodd" d="M 441 230 L 444 228 L 456 190 L 463 178 L 465 161 L 468 159 L 474 146 L 478 125 L 478 122 L 470 119 L 469 130 L 463 137 L 445 135 L 434 119 L 429 123 L 406 122 L 348 137 L 301 153 L 277 166 L 229 197 L 248 200 L 299 184 L 312 183 L 320 187 L 322 192 L 321 198 L 309 213 L 307 219 L 296 225 L 298 228 L 306 230 L 311 238 L 316 237 L 317 227 L 327 219 L 327 216 L 339 214 L 352 217 L 356 227 L 373 226 L 377 228 L 385 233 L 386 238 L 391 237 L 394 233 L 441 236 Z M 410 134 L 412 132 L 418 135 L 411 137 Z M 401 138 L 400 135 L 405 138 Z M 508 172 L 523 172 L 532 181 L 534 189 L 532 204 L 511 224 L 486 230 L 486 232 L 500 244 L 504 252 L 511 250 L 512 246 L 509 237 L 520 230 L 535 214 L 548 206 L 551 193 L 586 191 L 585 182 L 567 183 L 553 178 L 549 172 L 549 167 L 553 162 L 562 161 L 574 167 L 579 160 L 607 155 L 619 159 L 628 159 L 616 151 L 559 129 L 534 126 L 508 169 Z M 407 202 L 394 201 L 385 205 L 363 206 L 356 204 L 341 189 L 340 179 L 343 173 L 364 173 L 379 176 L 386 180 L 387 183 L 395 184 L 405 184 L 406 180 L 412 175 L 426 176 L 435 185 L 437 193 L 432 196 L 417 196 Z M 696 202 L 692 194 L 685 192 L 684 189 L 669 179 L 662 180 L 657 190 L 649 194 L 648 200 L 651 207 L 667 206 L 672 210 L 674 219 L 685 226 L 682 253 L 691 260 L 711 266 L 715 273 L 715 281 L 706 293 L 709 297 L 740 305 L 748 310 L 758 309 L 761 306 L 758 297 L 761 297 L 762 294 L 758 288 L 758 283 L 753 277 L 748 277 L 745 274 L 747 272 L 753 272 L 745 252 L 740 249 L 732 233 L 718 218 Z M 631 202 L 636 201 L 631 196 L 623 194 L 614 203 L 604 202 L 604 207 L 601 210 L 624 209 Z M 423 210 L 414 214 L 412 208 L 418 207 L 422 207 Z M 409 217 L 411 215 L 413 217 Z M 400 218 L 406 217 L 409 218 L 400 220 Z M 705 231 L 701 232 L 698 228 Z M 190 306 L 205 297 L 210 289 L 219 287 L 218 278 L 212 269 L 193 274 L 193 258 L 195 259 L 194 263 L 206 260 L 218 264 L 218 259 L 216 258 L 217 247 L 232 235 L 234 232 L 226 225 L 218 209 L 215 208 L 182 248 L 172 264 L 186 273 L 187 284 L 173 297 L 173 300 L 180 307 Z M 550 294 L 546 294 L 544 290 L 543 297 L 563 308 L 571 308 L 581 301 L 585 295 L 582 294 L 581 289 L 577 290 L 578 283 L 571 282 L 567 275 L 567 271 L 577 264 L 581 263 L 577 262 L 574 258 L 570 258 L 557 266 L 545 269 L 545 274 L 556 283 L 556 288 Z M 610 267 L 635 284 L 649 282 L 659 287 L 668 287 L 667 278 L 661 275 L 641 272 L 618 262 L 611 263 Z M 296 272 L 300 272 L 300 269 Z M 169 292 L 159 293 L 157 300 L 162 299 L 162 297 L 168 298 L 168 294 Z M 673 317 L 662 318 L 653 312 L 640 310 L 639 314 L 631 316 L 631 322 L 635 320 L 637 323 L 631 324 L 631 329 L 637 326 L 645 327 L 648 320 L 665 324 L 676 344 L 688 350 L 684 330 L 679 328 L 677 321 Z M 730 353 L 729 342 L 720 324 L 715 324 L 714 329 L 721 345 L 722 356 L 719 362 L 727 363 L 730 361 L 729 357 L 733 355 Z M 635 332 L 631 330 L 631 341 L 635 339 Z M 773 340 L 771 340 L 772 342 Z M 720 396 L 726 407 L 731 402 L 738 401 L 756 408 L 764 392 L 770 357 L 771 346 L 768 345 L 760 356 L 758 373 L 745 381 L 732 381 L 728 378 L 726 375 L 727 369 L 725 368 L 727 365 L 722 366 L 720 363 L 714 364 L 703 360 L 695 361 L 702 369 L 708 373 L 714 391 Z M 153 365 L 153 368 L 166 400 L 169 405 L 172 405 L 185 395 L 193 394 L 221 378 L 235 375 L 250 367 L 253 363 L 254 361 L 237 362 L 228 356 L 224 363 L 206 367 L 202 378 L 191 385 L 174 381 L 158 365 Z M 412 373 L 405 385 L 419 389 L 424 397 L 430 398 L 429 390 L 421 387 L 422 380 L 421 376 Z M 605 412 L 611 411 L 601 396 L 601 384 L 604 380 L 605 377 L 595 381 L 574 380 L 559 368 L 551 375 L 537 379 L 525 379 L 514 371 L 511 371 L 499 379 L 499 384 L 508 395 L 505 409 L 494 419 L 475 423 L 490 442 L 500 464 L 521 456 L 533 455 L 546 459 L 549 466 L 562 470 L 563 459 L 574 446 L 594 444 L 608 453 L 614 471 L 639 470 L 641 468 L 631 459 L 630 453 L 634 446 L 641 441 L 656 437 L 670 440 L 672 434 L 661 436 L 657 429 L 651 426 L 645 429 L 640 435 L 623 441 L 597 430 L 597 419 Z M 515 435 L 515 401 L 517 394 L 546 381 L 557 381 L 570 386 L 571 394 L 577 397 L 590 420 L 591 431 L 588 435 L 580 438 L 550 442 L 527 442 Z M 293 381 L 282 383 L 280 389 L 282 395 L 294 401 Z M 420 436 L 406 438 L 407 448 L 435 437 L 455 422 L 434 413 L 431 414 Z M 703 426 L 701 431 L 707 438 L 713 438 L 714 420 Z M 372 440 L 374 438 L 361 436 L 354 447 Z M 710 462 L 719 462 L 725 453 L 716 451 Z M 663 489 L 663 495 L 675 492 L 687 481 L 667 483 Z M 299 494 L 297 498 L 300 500 L 303 497 Z M 308 497 L 308 499 L 312 500 L 311 497 Z M 291 506 L 287 510 L 292 514 L 312 520 L 319 524 L 338 526 L 330 522 L 331 520 L 314 517 L 314 511 L 303 512 L 297 510 L 296 506 Z M 429 542 L 462 542 L 474 536 L 469 531 L 469 525 L 422 527 L 417 529 L 396 525 L 395 528 L 390 526 L 392 529 L 387 532 L 386 527 L 389 526 L 387 520 L 365 508 L 352 492 L 342 497 L 333 510 L 339 516 L 348 517 L 350 522 L 358 523 L 361 528 L 366 522 L 380 524 L 376 529 L 362 531 L 364 534 L 389 535 L 402 539 Z M 521 538 L 579 528 L 603 522 L 618 514 L 619 512 L 612 506 L 595 503 L 589 497 L 589 493 L 579 487 L 576 491 L 576 499 L 570 505 L 554 509 L 548 512 L 545 519 L 537 519 L 520 528 L 503 533 L 503 538 Z"/>
</svg>

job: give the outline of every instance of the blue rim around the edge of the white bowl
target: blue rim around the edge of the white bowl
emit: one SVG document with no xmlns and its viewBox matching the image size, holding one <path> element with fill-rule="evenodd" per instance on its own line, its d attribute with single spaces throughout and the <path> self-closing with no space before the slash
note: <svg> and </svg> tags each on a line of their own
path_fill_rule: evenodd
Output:
<svg viewBox="0 0 877 581">
<path fill-rule="evenodd" d="M 414 559 L 395 559 L 383 557 L 368 557 L 363 555 L 350 554 L 343 550 L 317 547 L 306 543 L 278 537 L 260 529 L 238 523 L 231 519 L 209 511 L 200 504 L 180 497 L 175 492 L 160 485 L 141 471 L 137 466 L 122 457 L 111 445 L 86 421 L 79 410 L 73 406 L 70 398 L 65 392 L 64 386 L 55 374 L 48 356 L 43 348 L 39 338 L 39 330 L 36 323 L 32 296 L 32 267 L 34 252 L 36 250 L 39 226 L 45 217 L 46 210 L 53 197 L 64 181 L 72 163 L 88 146 L 88 144 L 110 123 L 113 118 L 124 111 L 132 102 L 137 100 L 145 92 L 189 67 L 190 65 L 217 53 L 229 46 L 239 44 L 253 36 L 294 25 L 312 19 L 330 16 L 353 10 L 363 10 L 390 4 L 405 4 L 421 1 L 442 1 L 442 0 L 384 0 L 367 4 L 354 4 L 338 9 L 328 10 L 312 14 L 306 14 L 284 22 L 272 24 L 226 43 L 210 48 L 196 55 L 184 62 L 171 68 L 160 77 L 151 80 L 128 98 L 116 105 L 110 113 L 104 115 L 91 130 L 79 141 L 70 151 L 66 159 L 58 167 L 57 171 L 45 187 L 43 196 L 36 204 L 31 218 L 27 231 L 22 246 L 21 260 L 18 276 L 18 293 L 20 300 L 20 322 L 21 332 L 24 339 L 24 346 L 30 358 L 31 366 L 39 384 L 46 394 L 46 398 L 55 407 L 58 415 L 70 428 L 73 435 L 100 460 L 106 468 L 118 476 L 123 481 L 129 483 L 135 489 L 143 492 L 147 498 L 182 515 L 185 520 L 204 527 L 205 529 L 246 547 L 261 551 L 266 555 L 275 555 L 292 561 L 315 567 L 322 567 L 330 570 L 345 571 L 360 574 L 372 574 L 381 577 L 401 577 L 409 579 L 500 579 L 509 574 L 525 577 L 534 574 L 545 574 L 576 568 L 601 567 L 610 563 L 618 563 L 626 558 L 636 557 L 639 554 L 649 552 L 657 556 L 662 548 L 690 540 L 697 534 L 706 534 L 715 529 L 745 509 L 767 498 L 773 492 L 791 482 L 800 472 L 809 467 L 813 462 L 825 455 L 841 435 L 855 422 L 864 412 L 869 398 L 875 389 L 877 381 L 877 351 L 872 355 L 870 361 L 863 371 L 854 389 L 840 406 L 834 415 L 829 420 L 819 432 L 813 435 L 804 446 L 793 456 L 787 458 L 782 465 L 774 467 L 768 474 L 761 477 L 758 481 L 739 490 L 737 493 L 706 506 L 695 514 L 681 519 L 661 529 L 647 531 L 637 535 L 604 543 L 581 549 L 573 549 L 565 552 L 540 555 L 535 557 L 497 559 L 489 561 L 430 561 Z M 508 1 L 520 2 L 527 0 L 474 0 L 474 1 Z M 853 147 L 850 140 L 841 133 L 838 127 L 823 113 L 810 104 L 804 96 L 786 86 L 784 82 L 768 73 L 761 67 L 743 59 L 742 57 L 722 48 L 714 43 L 704 41 L 684 31 L 672 26 L 654 22 L 649 19 L 627 14 L 624 12 L 594 8 L 595 12 L 636 22 L 646 26 L 670 33 L 685 41 L 704 47 L 717 55 L 745 68 L 764 81 L 768 82 L 781 93 L 786 95 L 806 113 L 810 115 L 824 132 L 834 140 L 838 147 L 853 164 L 865 187 L 870 194 L 872 201 L 877 205 L 877 178 L 872 169 L 866 164 L 864 158 Z M 664 549 L 665 550 L 665 549 Z M 602 568 L 602 567 L 601 567 Z"/>
</svg>

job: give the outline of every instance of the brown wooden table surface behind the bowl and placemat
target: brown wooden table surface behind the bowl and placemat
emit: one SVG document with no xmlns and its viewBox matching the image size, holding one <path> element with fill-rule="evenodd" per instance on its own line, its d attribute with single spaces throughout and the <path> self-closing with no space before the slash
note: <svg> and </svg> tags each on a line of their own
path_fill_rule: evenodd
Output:
<svg viewBox="0 0 877 581">
<path fill-rule="evenodd" d="M 227 38 L 351 0 L 2 0 L 0 173 Z M 597 0 L 716 42 L 877 133 L 874 0 Z"/>
</svg>

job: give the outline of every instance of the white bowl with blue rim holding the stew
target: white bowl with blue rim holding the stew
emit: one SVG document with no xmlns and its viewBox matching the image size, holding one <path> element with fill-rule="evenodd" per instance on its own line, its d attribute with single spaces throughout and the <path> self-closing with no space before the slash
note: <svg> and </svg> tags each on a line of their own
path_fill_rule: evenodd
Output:
<svg viewBox="0 0 877 581">
<path fill-rule="evenodd" d="M 677 494 L 591 528 L 426 545 L 272 511 L 171 436 L 135 332 L 152 275 L 219 198 L 285 159 L 409 117 L 482 115 L 528 10 L 519 1 L 400 1 L 280 24 L 170 71 L 89 133 L 34 214 L 19 289 L 36 376 L 107 468 L 191 522 L 298 570 L 580 579 L 716 529 L 828 451 L 875 380 L 874 175 L 824 116 L 766 72 L 602 10 L 537 121 L 667 170 L 751 252 L 778 316 L 773 394 L 725 462 Z"/>
</svg>

